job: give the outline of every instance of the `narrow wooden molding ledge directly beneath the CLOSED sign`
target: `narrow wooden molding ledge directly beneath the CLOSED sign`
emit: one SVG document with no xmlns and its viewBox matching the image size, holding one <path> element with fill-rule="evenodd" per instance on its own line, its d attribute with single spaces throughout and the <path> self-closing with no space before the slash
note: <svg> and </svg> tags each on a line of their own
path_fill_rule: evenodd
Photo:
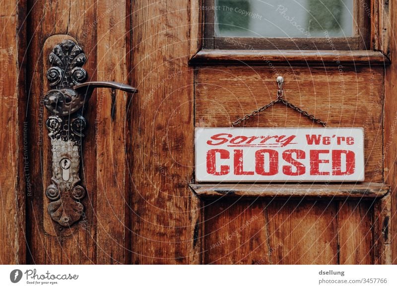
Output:
<svg viewBox="0 0 397 289">
<path fill-rule="evenodd" d="M 191 184 L 199 198 L 356 198 L 384 197 L 390 186 L 383 183 L 359 184 Z"/>
</svg>

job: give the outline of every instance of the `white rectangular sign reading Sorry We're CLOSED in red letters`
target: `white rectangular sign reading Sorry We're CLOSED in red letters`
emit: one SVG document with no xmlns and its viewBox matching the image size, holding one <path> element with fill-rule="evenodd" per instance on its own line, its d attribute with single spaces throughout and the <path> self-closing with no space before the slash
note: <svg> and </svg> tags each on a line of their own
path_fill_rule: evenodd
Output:
<svg viewBox="0 0 397 289">
<path fill-rule="evenodd" d="M 196 180 L 363 181 L 363 128 L 196 128 Z"/>
</svg>

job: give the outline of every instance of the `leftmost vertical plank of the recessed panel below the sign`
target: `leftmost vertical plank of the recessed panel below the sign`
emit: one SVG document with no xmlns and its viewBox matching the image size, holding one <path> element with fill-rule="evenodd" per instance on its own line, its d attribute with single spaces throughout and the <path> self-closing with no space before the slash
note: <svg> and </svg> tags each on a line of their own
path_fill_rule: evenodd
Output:
<svg viewBox="0 0 397 289">
<path fill-rule="evenodd" d="M 205 264 L 270 263 L 276 248 L 269 248 L 265 202 L 207 202 L 204 210 Z"/>
</svg>

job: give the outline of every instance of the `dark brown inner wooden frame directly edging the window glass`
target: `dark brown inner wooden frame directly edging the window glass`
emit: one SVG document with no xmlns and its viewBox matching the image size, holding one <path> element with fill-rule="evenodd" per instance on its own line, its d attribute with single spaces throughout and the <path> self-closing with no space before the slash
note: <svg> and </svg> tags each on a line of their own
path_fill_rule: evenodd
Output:
<svg viewBox="0 0 397 289">
<path fill-rule="evenodd" d="M 353 0 L 352 37 L 216 37 L 214 35 L 214 2 L 204 0 L 204 48 L 233 50 L 368 50 L 371 38 L 371 0 Z M 209 7 L 212 7 L 210 9 Z"/>
</svg>

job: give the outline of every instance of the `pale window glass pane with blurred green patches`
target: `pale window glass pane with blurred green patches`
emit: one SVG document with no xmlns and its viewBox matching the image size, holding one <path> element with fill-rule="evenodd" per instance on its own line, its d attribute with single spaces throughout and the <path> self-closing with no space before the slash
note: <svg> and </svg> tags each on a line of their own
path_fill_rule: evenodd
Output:
<svg viewBox="0 0 397 289">
<path fill-rule="evenodd" d="M 215 0 L 217 37 L 351 37 L 353 0 Z"/>
</svg>

